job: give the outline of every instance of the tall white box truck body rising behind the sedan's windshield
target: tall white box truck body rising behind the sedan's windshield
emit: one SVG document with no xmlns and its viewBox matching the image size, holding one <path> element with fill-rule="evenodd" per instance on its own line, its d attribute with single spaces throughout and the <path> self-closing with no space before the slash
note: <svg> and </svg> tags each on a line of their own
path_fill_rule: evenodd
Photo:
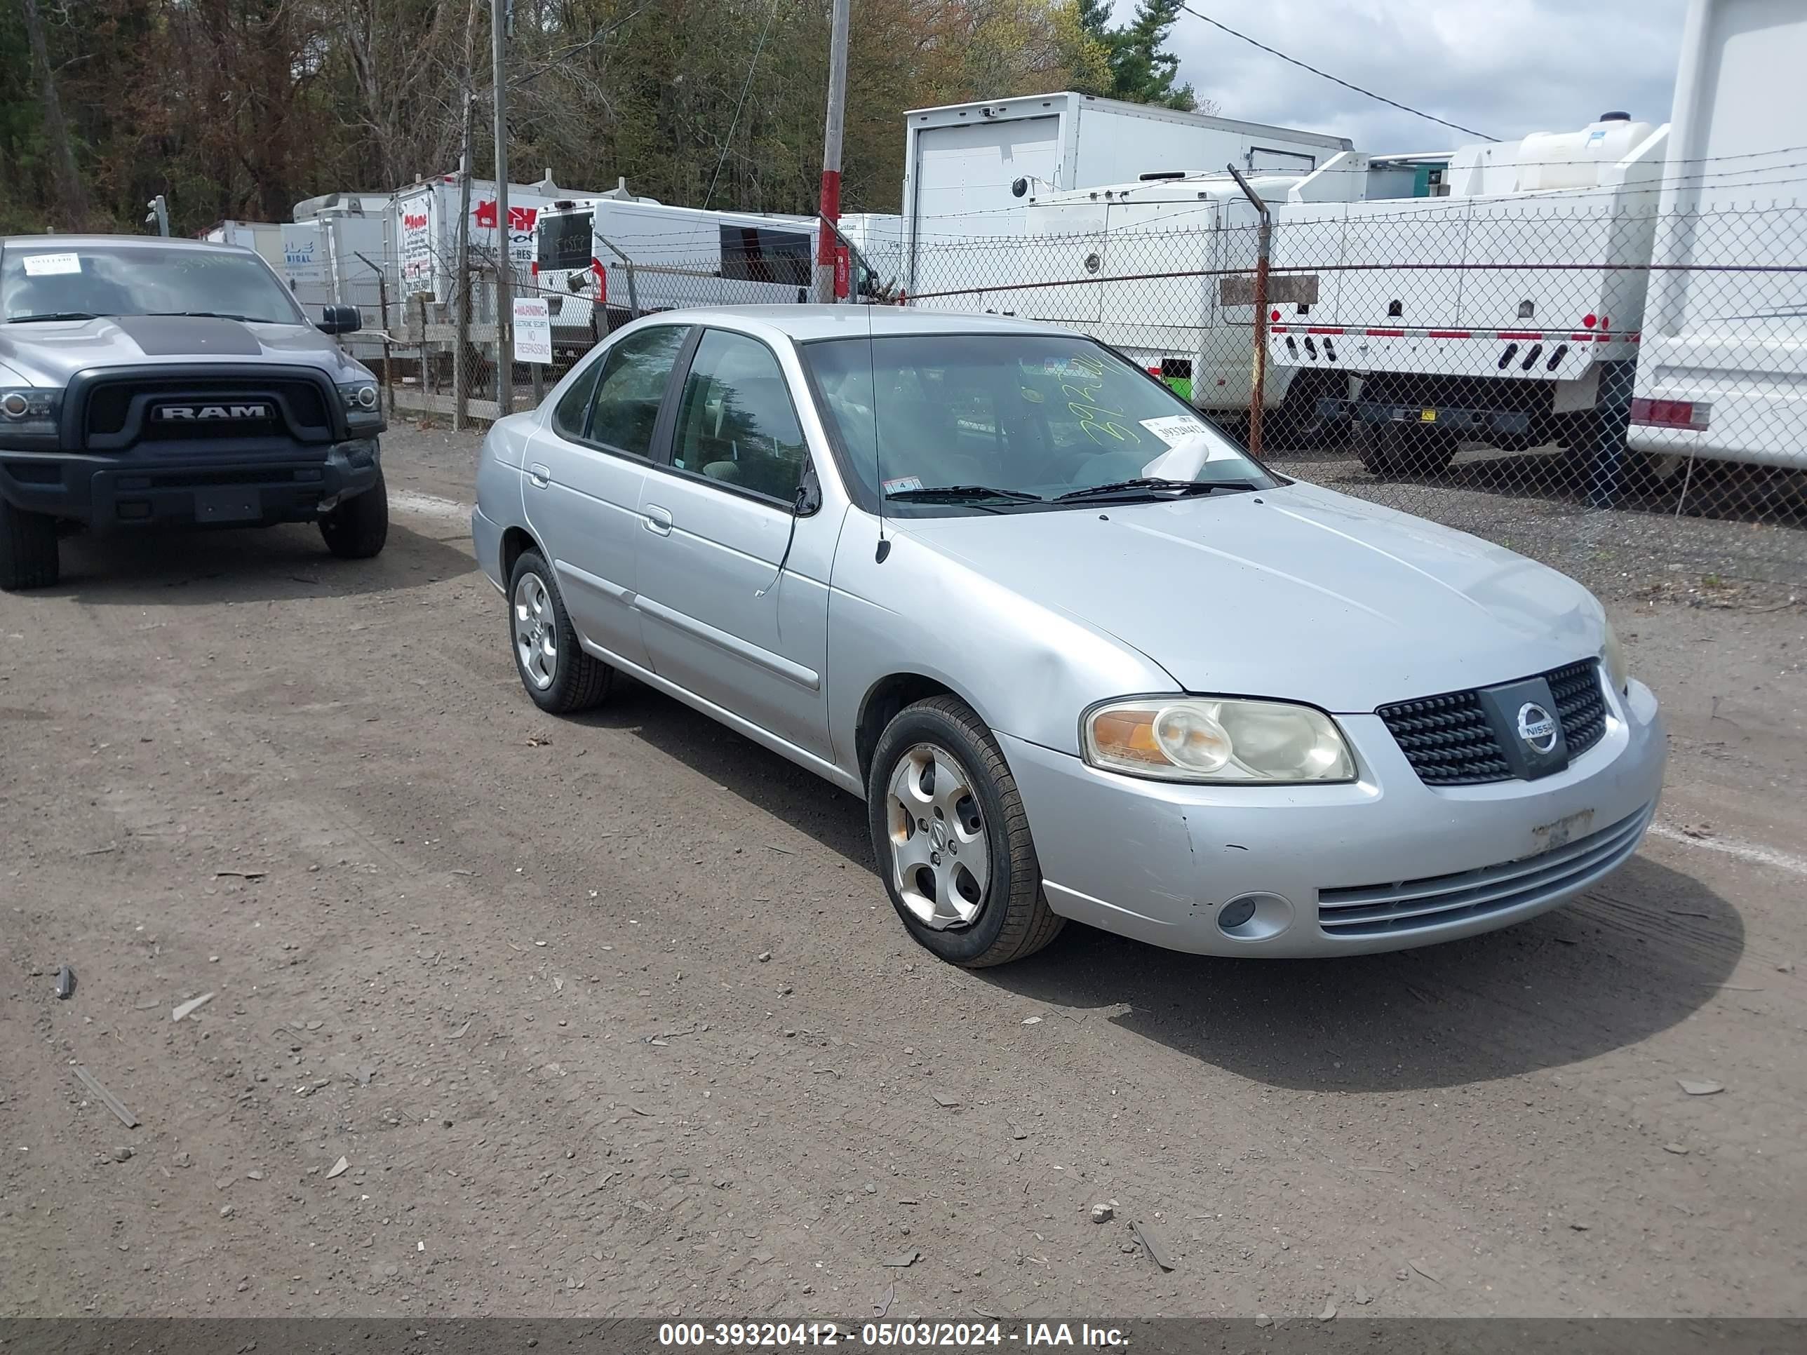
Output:
<svg viewBox="0 0 1807 1355">
<path fill-rule="evenodd" d="M 974 287 L 1025 280 L 1012 242 L 1032 192 L 1225 164 L 1299 173 L 1344 150 L 1344 137 L 1073 92 L 914 108 L 904 136 L 905 289 L 961 311 L 979 309 Z"/>
</svg>

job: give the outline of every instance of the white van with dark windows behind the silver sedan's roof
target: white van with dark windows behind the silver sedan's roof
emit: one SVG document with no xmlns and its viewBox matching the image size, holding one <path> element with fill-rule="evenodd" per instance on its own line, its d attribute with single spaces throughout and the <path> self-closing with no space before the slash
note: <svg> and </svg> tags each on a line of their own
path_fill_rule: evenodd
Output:
<svg viewBox="0 0 1807 1355">
<path fill-rule="evenodd" d="M 813 217 L 674 208 L 625 190 L 566 199 L 540 213 L 533 285 L 551 311 L 553 343 L 587 349 L 636 307 L 810 300 L 813 226 Z"/>
</svg>

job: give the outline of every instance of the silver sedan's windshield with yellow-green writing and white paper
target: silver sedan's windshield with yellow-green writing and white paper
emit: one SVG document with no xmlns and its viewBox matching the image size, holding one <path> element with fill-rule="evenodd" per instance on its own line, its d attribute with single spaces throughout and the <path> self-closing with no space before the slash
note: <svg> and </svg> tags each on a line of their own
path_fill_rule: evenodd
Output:
<svg viewBox="0 0 1807 1355">
<path fill-rule="evenodd" d="M 849 470 L 885 511 L 1073 508 L 1278 481 L 1090 340 L 894 334 L 801 345 Z"/>
</svg>

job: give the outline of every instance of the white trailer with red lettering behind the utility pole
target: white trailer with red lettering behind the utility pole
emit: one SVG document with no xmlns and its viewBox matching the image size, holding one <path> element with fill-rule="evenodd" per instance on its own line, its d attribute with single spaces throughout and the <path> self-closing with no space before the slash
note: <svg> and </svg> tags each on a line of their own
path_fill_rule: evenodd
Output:
<svg viewBox="0 0 1807 1355">
<path fill-rule="evenodd" d="M 533 266 L 533 224 L 544 208 L 573 197 L 560 190 L 551 173 L 537 184 L 508 186 L 508 222 L 499 229 L 493 179 L 470 181 L 470 260 L 473 271 L 488 273 L 499 257 L 499 237 L 506 238 L 508 267 L 526 280 Z M 403 300 L 421 294 L 434 302 L 452 302 L 457 285 L 459 179 L 437 175 L 408 184 L 389 204 L 387 255 L 398 260 Z M 472 318 L 493 320 L 488 287 L 473 289 Z"/>
</svg>

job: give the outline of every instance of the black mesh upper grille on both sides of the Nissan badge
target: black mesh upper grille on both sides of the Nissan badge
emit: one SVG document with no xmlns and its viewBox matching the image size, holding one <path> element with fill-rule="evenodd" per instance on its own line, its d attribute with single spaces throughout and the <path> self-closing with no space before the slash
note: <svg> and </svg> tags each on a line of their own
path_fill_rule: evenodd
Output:
<svg viewBox="0 0 1807 1355">
<path fill-rule="evenodd" d="M 1568 757 L 1579 757 L 1606 732 L 1606 697 L 1597 659 L 1581 659 L 1540 674 L 1556 699 Z M 1375 712 L 1426 786 L 1482 786 L 1512 780 L 1476 692 L 1446 692 L 1397 701 Z"/>
</svg>

